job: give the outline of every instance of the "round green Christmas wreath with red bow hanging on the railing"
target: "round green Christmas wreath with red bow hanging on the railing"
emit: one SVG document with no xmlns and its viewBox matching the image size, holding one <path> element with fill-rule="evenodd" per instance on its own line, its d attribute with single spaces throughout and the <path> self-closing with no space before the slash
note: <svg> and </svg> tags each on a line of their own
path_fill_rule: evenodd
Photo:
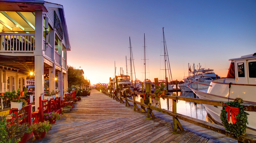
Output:
<svg viewBox="0 0 256 143">
<path fill-rule="evenodd" d="M 231 115 L 230 115 L 231 114 Z M 224 103 L 221 110 L 221 121 L 226 131 L 234 133 L 235 136 L 245 134 L 248 113 L 239 102 Z"/>
</svg>

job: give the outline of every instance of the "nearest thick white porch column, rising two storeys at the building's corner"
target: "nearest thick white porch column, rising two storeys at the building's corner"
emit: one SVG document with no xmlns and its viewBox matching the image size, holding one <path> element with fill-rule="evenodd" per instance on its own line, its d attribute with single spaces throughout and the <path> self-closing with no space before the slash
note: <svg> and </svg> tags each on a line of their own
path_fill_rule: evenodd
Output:
<svg viewBox="0 0 256 143">
<path fill-rule="evenodd" d="M 44 93 L 43 22 L 42 11 L 35 11 L 35 109 L 39 107 L 39 97 Z"/>
</svg>

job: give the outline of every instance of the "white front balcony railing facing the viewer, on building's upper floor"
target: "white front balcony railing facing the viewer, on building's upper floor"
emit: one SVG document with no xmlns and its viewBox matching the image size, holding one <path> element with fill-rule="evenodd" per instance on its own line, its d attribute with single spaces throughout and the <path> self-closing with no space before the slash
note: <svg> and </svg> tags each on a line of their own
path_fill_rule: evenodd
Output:
<svg viewBox="0 0 256 143">
<path fill-rule="evenodd" d="M 33 33 L 0 33 L 1 52 L 33 52 L 35 34 Z"/>
</svg>

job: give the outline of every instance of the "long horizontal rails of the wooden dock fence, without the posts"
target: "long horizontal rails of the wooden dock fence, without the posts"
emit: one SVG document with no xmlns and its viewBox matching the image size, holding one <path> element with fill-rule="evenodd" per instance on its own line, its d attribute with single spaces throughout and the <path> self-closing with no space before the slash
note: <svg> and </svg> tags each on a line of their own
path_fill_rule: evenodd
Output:
<svg viewBox="0 0 256 143">
<path fill-rule="evenodd" d="M 101 91 L 101 92 L 103 92 L 106 95 L 110 94 L 111 97 L 115 96 L 115 95 L 112 95 L 112 93 L 107 93 L 105 91 Z M 130 94 L 143 95 L 143 93 L 139 93 L 139 92 L 131 92 Z M 155 96 L 154 94 L 148 94 L 148 95 L 149 96 Z M 187 121 L 189 123 L 192 123 L 192 124 L 201 126 L 203 128 L 221 133 L 221 134 L 226 135 L 228 137 L 234 138 L 234 139 L 236 139 L 240 142 L 256 142 L 255 137 L 252 136 L 252 135 L 240 135 L 240 136 L 236 137 L 235 134 L 226 131 L 225 128 L 220 127 L 219 125 L 216 125 L 216 124 L 213 124 L 213 123 L 210 123 L 210 122 L 206 122 L 206 121 L 203 121 L 203 120 L 200 120 L 200 119 L 195 119 L 193 117 L 185 116 L 185 115 L 182 115 L 182 114 L 179 114 L 179 113 L 174 114 L 172 111 L 169 111 L 169 110 L 166 110 L 166 109 L 160 109 L 160 108 L 157 108 L 157 107 L 154 107 L 154 106 L 151 106 L 151 105 L 146 105 L 146 104 L 140 103 L 138 101 L 130 100 L 128 98 L 116 96 L 116 98 L 117 97 L 120 98 L 120 102 L 121 102 L 121 99 L 123 99 L 123 100 L 125 100 L 125 103 L 127 101 L 134 103 L 134 106 L 137 106 L 137 104 L 139 104 L 141 106 L 147 107 L 150 110 L 153 109 L 153 110 L 156 110 L 158 112 L 161 112 L 161 113 L 164 113 L 164 114 L 167 114 L 167 115 L 171 115 L 174 118 L 182 119 L 182 120 Z M 172 100 L 182 100 L 182 101 L 188 101 L 188 102 L 194 102 L 194 103 L 203 103 L 203 104 L 217 105 L 217 106 L 222 106 L 225 103 L 225 102 L 222 102 L 222 101 L 195 99 L 195 98 L 181 97 L 181 96 L 161 95 L 161 98 L 167 98 L 167 99 L 172 99 Z M 254 112 L 256 111 L 255 104 L 241 103 L 241 105 L 244 106 L 245 111 L 254 111 Z M 134 109 L 135 109 L 135 107 L 134 107 Z"/>
</svg>

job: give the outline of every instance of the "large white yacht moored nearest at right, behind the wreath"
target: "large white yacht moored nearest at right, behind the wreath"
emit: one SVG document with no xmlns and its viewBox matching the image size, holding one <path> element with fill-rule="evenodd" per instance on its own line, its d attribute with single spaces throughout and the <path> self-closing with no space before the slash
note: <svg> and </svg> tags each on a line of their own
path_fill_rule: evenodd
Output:
<svg viewBox="0 0 256 143">
<path fill-rule="evenodd" d="M 197 90 L 188 87 L 200 98 L 218 101 L 234 101 L 243 99 L 244 103 L 256 105 L 256 53 L 240 58 L 229 59 L 231 61 L 227 77 L 214 79 L 208 89 Z M 220 115 L 222 107 L 203 104 L 207 113 L 221 123 Z M 245 111 L 247 112 L 247 111 Z M 256 135 L 256 112 L 249 113 L 246 134 Z"/>
</svg>

